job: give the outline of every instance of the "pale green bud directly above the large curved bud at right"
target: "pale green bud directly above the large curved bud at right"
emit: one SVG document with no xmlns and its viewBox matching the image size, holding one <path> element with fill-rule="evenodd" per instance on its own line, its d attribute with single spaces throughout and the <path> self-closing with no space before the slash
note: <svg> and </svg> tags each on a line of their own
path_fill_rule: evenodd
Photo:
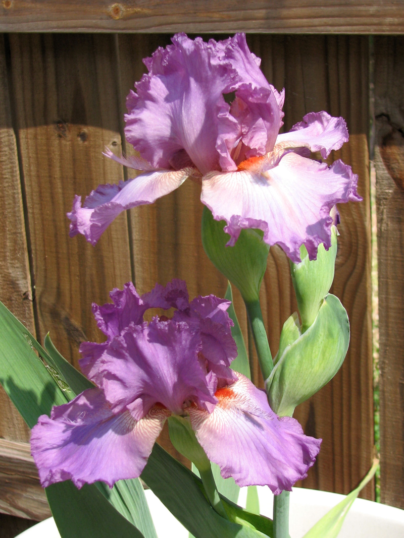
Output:
<svg viewBox="0 0 404 538">
<path fill-rule="evenodd" d="M 324 297 L 328 294 L 334 279 L 335 258 L 337 256 L 337 228 L 331 226 L 331 246 L 325 250 L 323 243 L 318 246 L 317 259 L 309 260 L 306 247 L 300 247 L 302 261 L 290 262 L 293 286 L 302 320 L 302 332 L 314 322 Z"/>
</svg>

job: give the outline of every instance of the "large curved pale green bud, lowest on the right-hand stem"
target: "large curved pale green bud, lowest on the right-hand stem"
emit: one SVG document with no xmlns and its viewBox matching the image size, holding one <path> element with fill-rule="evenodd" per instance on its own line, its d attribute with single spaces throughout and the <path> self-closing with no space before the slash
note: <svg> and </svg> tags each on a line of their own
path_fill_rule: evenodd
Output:
<svg viewBox="0 0 404 538">
<path fill-rule="evenodd" d="M 293 316 L 291 316 L 292 318 Z M 292 416 L 295 407 L 318 392 L 332 379 L 344 362 L 349 345 L 349 320 L 335 295 L 327 295 L 312 325 L 297 335 L 290 318 L 281 335 L 283 351 L 266 380 L 271 409 L 280 416 Z M 291 342 L 284 346 L 285 343 Z"/>
</svg>

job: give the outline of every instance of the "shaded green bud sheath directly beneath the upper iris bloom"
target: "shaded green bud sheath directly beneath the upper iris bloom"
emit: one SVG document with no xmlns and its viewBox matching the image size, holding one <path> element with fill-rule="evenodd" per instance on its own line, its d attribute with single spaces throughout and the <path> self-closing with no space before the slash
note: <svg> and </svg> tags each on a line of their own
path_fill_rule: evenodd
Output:
<svg viewBox="0 0 404 538">
<path fill-rule="evenodd" d="M 269 245 L 262 240 L 261 230 L 241 230 L 234 246 L 223 231 L 225 221 L 215 221 L 211 211 L 204 207 L 202 215 L 202 244 L 208 258 L 225 277 L 239 288 L 242 298 L 259 298 L 261 282 L 267 268 Z"/>
</svg>

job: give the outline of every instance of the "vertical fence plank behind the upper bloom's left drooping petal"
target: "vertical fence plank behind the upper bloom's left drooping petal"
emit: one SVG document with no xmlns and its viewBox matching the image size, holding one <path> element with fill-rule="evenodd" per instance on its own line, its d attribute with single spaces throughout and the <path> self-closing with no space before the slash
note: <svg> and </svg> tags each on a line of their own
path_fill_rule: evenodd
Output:
<svg viewBox="0 0 404 538">
<path fill-rule="evenodd" d="M 121 145 L 114 38 L 14 34 L 10 51 L 40 338 L 77 365 L 80 342 L 101 338 L 91 303 L 131 277 L 125 215 L 95 247 L 66 218 L 74 194 L 123 177 L 102 155 Z"/>
</svg>

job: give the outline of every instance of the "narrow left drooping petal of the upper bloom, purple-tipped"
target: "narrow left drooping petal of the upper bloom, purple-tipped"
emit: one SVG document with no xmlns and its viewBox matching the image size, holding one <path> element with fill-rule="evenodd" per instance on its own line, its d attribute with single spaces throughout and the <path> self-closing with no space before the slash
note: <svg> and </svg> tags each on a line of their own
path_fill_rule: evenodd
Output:
<svg viewBox="0 0 404 538">
<path fill-rule="evenodd" d="M 75 196 L 72 211 L 67 214 L 72 221 L 70 237 L 82 233 L 95 245 L 122 211 L 153 203 L 182 185 L 193 172 L 193 168 L 146 172 L 129 181 L 121 181 L 119 185 L 100 185 L 87 196 L 83 207 L 81 197 Z"/>
</svg>

